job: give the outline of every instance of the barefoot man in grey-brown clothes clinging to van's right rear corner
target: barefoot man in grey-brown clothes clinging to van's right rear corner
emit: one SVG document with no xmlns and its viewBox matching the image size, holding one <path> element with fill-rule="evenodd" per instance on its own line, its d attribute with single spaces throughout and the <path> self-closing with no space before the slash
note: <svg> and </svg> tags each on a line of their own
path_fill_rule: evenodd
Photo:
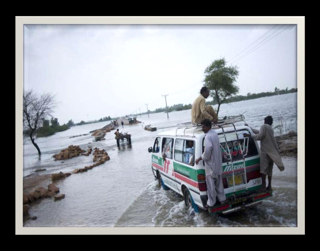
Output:
<svg viewBox="0 0 320 251">
<path fill-rule="evenodd" d="M 284 170 L 284 164 L 281 160 L 281 156 L 279 153 L 278 144 L 276 142 L 273 129 L 271 127 L 273 123 L 272 116 L 267 116 L 264 118 L 264 124 L 260 127 L 260 130 L 252 129 L 255 133 L 254 135 L 250 135 L 248 133 L 244 133 L 244 137 L 252 137 L 254 140 L 260 140 L 260 173 L 262 177 L 262 187 L 259 192 L 264 192 L 266 190 L 272 191 L 271 188 L 271 177 L 272 177 L 272 168 L 273 162 L 277 165 L 280 171 Z M 248 126 L 247 124 L 245 124 Z M 266 176 L 268 175 L 268 187 L 266 188 Z"/>
</svg>

